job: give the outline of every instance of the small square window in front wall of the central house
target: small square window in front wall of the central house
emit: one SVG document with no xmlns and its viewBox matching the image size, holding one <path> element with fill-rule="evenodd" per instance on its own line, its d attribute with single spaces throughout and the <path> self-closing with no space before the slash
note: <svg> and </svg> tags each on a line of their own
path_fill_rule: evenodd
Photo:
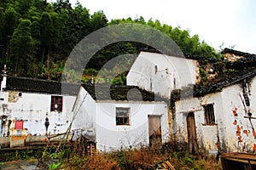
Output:
<svg viewBox="0 0 256 170">
<path fill-rule="evenodd" d="M 130 125 L 130 108 L 116 108 L 116 125 Z"/>
</svg>

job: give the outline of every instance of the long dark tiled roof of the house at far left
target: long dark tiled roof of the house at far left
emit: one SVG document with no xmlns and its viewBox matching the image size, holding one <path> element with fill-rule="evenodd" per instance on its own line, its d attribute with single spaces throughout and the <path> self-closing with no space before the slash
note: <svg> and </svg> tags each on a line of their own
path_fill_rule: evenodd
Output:
<svg viewBox="0 0 256 170">
<path fill-rule="evenodd" d="M 40 94 L 69 94 L 77 95 L 79 84 L 55 82 L 27 77 L 7 77 L 5 90 Z"/>
</svg>

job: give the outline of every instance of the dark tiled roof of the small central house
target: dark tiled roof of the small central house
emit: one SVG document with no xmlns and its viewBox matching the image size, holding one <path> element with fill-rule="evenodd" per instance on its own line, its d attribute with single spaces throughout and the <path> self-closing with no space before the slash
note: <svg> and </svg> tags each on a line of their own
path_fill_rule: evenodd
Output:
<svg viewBox="0 0 256 170">
<path fill-rule="evenodd" d="M 95 100 L 166 101 L 157 94 L 137 86 L 105 86 L 83 84 L 83 88 Z"/>
</svg>

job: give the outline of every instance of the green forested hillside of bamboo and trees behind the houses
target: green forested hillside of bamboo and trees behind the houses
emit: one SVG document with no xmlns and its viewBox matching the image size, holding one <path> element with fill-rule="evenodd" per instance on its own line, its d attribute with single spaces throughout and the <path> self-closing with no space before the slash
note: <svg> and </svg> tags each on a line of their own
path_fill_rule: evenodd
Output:
<svg viewBox="0 0 256 170">
<path fill-rule="evenodd" d="M 218 58 L 214 48 L 191 37 L 188 30 L 162 25 L 159 20 L 138 19 L 111 20 L 98 11 L 90 10 L 68 0 L 47 3 L 46 0 L 0 1 L 0 66 L 9 67 L 15 76 L 61 80 L 61 71 L 74 46 L 104 26 L 119 23 L 140 23 L 163 31 L 182 49 L 183 54 Z M 102 48 L 87 68 L 100 70 L 109 59 L 119 54 L 138 54 L 147 44 L 119 42 Z M 85 71 L 86 72 L 86 71 Z"/>
</svg>

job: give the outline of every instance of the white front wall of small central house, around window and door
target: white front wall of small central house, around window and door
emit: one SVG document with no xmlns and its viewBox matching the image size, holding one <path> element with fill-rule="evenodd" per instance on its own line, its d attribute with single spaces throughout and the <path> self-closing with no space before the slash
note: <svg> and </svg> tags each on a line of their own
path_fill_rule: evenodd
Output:
<svg viewBox="0 0 256 170">
<path fill-rule="evenodd" d="M 131 108 L 130 125 L 116 125 L 116 107 Z M 149 144 L 148 115 L 162 115 L 162 142 L 169 140 L 167 105 L 164 102 L 109 101 L 96 103 L 96 144 L 98 150 L 117 150 Z"/>
</svg>

